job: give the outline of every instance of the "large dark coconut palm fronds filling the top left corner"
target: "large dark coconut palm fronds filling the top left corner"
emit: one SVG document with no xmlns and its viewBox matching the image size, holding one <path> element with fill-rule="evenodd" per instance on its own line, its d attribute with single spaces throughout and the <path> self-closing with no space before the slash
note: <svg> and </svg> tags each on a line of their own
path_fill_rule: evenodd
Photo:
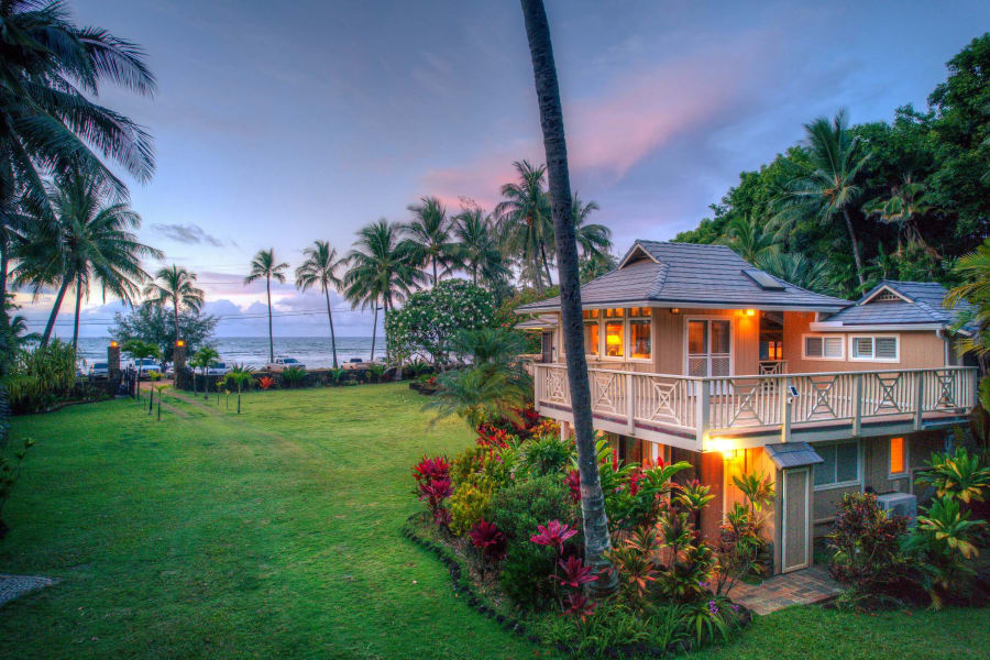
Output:
<svg viewBox="0 0 990 660">
<path fill-rule="evenodd" d="M 100 28 L 79 28 L 64 2 L 0 2 L 0 193 L 23 190 L 40 204 L 50 173 L 77 168 L 123 183 L 102 163 L 114 161 L 139 182 L 154 170 L 148 134 L 95 102 L 102 84 L 142 96 L 155 79 L 135 44 Z M 11 180 L 15 183 L 11 183 Z"/>
</svg>

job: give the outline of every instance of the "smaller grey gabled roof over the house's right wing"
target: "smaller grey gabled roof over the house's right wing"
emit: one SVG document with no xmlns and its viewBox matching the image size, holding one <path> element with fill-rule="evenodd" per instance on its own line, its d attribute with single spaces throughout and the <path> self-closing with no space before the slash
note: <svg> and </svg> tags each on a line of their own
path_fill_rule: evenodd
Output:
<svg viewBox="0 0 990 660">
<path fill-rule="evenodd" d="M 890 292 L 893 296 L 882 296 Z M 943 307 L 948 290 L 937 282 L 884 279 L 854 306 L 828 317 L 822 326 L 924 326 L 947 328 L 972 305 L 963 300 L 953 309 Z M 894 299 L 887 299 L 894 298 Z M 825 329 L 825 328 L 823 328 Z M 968 331 L 964 328 L 964 331 Z"/>
</svg>

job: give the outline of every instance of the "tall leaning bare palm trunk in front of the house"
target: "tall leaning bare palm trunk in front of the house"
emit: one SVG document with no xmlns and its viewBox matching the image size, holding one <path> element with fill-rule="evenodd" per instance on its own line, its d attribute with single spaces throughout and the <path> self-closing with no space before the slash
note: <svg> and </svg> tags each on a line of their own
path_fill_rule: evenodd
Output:
<svg viewBox="0 0 990 660">
<path fill-rule="evenodd" d="M 592 427 L 591 388 L 587 380 L 587 362 L 584 359 L 584 330 L 581 317 L 581 280 L 578 275 L 578 242 L 571 220 L 571 182 L 568 173 L 568 146 L 564 140 L 563 112 L 550 26 L 542 0 L 521 0 L 526 19 L 526 35 L 540 106 L 540 125 L 543 148 L 547 152 L 547 174 L 550 184 L 553 235 L 557 248 L 557 267 L 560 277 L 560 301 L 564 350 L 568 354 L 568 383 L 571 388 L 571 411 L 574 416 L 574 435 L 578 443 L 578 468 L 581 475 L 581 512 L 584 517 L 584 557 L 601 578 L 593 583 L 594 591 L 608 593 L 615 590 L 615 571 L 604 553 L 612 548 L 608 535 L 608 517 L 605 497 L 595 460 L 595 431 Z M 546 256 L 546 253 L 544 253 Z"/>
</svg>

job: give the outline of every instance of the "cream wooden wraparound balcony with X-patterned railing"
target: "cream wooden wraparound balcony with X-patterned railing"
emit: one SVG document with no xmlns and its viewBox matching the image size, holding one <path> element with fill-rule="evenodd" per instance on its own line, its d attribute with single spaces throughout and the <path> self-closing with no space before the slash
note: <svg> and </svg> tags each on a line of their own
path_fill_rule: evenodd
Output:
<svg viewBox="0 0 990 660">
<path fill-rule="evenodd" d="M 537 411 L 572 421 L 566 367 L 532 365 Z M 693 451 L 903 433 L 958 422 L 976 404 L 977 370 L 770 373 L 700 378 L 588 369 L 596 429 Z"/>
</svg>

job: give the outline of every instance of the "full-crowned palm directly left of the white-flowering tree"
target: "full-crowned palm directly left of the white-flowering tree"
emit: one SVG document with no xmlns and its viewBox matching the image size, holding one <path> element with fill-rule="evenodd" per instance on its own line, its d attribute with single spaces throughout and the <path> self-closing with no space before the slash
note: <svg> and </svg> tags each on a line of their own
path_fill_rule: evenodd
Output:
<svg viewBox="0 0 990 660">
<path fill-rule="evenodd" d="M 354 248 L 348 253 L 344 275 L 345 296 L 352 307 L 374 309 L 372 328 L 372 360 L 375 359 L 375 337 L 378 328 L 378 305 L 385 314 L 409 293 L 415 268 L 409 244 L 402 241 L 398 224 L 382 218 L 358 230 Z M 386 353 L 388 338 L 385 338 Z"/>
</svg>

